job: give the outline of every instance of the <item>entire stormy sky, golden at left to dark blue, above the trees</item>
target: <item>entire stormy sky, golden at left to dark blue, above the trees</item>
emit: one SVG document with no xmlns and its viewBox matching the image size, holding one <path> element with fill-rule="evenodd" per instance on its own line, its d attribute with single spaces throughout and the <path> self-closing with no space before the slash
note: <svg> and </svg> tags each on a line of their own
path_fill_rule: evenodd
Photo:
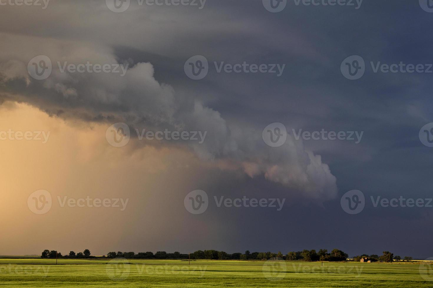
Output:
<svg viewBox="0 0 433 288">
<path fill-rule="evenodd" d="M 433 122 L 427 0 L 272 0 L 275 9 L 271 0 L 11 1 L 0 0 L 0 131 L 50 134 L 46 143 L 0 141 L 0 255 L 338 248 L 433 256 L 433 207 L 371 199 L 433 198 L 433 124 L 422 129 Z M 47 59 L 51 73 L 37 79 L 32 67 Z M 191 79 L 197 60 L 207 74 Z M 67 68 L 87 62 L 110 72 Z M 226 64 L 241 64 L 239 73 Z M 400 65 L 386 73 L 382 64 Z M 408 64 L 418 68 L 409 73 Z M 122 147 L 106 135 L 115 123 L 130 130 Z M 139 139 L 136 129 L 206 136 Z M 286 141 L 273 145 L 268 130 Z M 52 196 L 42 215 L 27 203 L 38 190 Z M 194 190 L 209 199 L 197 215 L 185 200 Z M 350 190 L 365 196 L 353 215 L 343 207 Z M 123 211 L 61 207 L 65 196 L 129 200 Z M 218 207 L 214 196 L 285 201 L 279 211 Z"/>
</svg>

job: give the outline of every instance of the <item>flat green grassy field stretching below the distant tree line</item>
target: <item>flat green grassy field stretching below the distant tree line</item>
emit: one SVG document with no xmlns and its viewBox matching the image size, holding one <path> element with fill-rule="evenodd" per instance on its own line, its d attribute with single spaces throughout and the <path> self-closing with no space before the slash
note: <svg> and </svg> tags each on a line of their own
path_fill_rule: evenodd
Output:
<svg viewBox="0 0 433 288">
<path fill-rule="evenodd" d="M 433 287 L 431 265 L 0 259 L 0 287 Z"/>
</svg>

